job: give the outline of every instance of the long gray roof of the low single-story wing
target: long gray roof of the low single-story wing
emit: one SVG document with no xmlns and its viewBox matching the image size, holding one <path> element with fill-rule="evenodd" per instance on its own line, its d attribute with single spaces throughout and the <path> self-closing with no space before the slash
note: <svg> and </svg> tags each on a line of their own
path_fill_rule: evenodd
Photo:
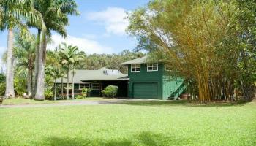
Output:
<svg viewBox="0 0 256 146">
<path fill-rule="evenodd" d="M 67 75 L 65 77 L 67 77 Z M 99 70 L 75 70 L 75 83 L 103 80 L 129 80 L 129 78 L 127 74 L 122 74 L 118 70 L 111 70 L 106 68 Z M 67 82 L 67 78 L 64 78 L 63 82 Z M 61 83 L 61 78 L 56 79 L 55 83 Z M 69 83 L 72 83 L 72 71 L 69 72 Z"/>
</svg>

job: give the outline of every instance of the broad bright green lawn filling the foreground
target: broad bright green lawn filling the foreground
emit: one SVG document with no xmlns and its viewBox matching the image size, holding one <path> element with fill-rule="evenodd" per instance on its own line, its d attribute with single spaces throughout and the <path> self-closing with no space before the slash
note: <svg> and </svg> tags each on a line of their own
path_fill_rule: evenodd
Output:
<svg viewBox="0 0 256 146">
<path fill-rule="evenodd" d="M 0 145 L 256 145 L 255 102 L 195 105 L 132 101 L 1 108 Z"/>
</svg>

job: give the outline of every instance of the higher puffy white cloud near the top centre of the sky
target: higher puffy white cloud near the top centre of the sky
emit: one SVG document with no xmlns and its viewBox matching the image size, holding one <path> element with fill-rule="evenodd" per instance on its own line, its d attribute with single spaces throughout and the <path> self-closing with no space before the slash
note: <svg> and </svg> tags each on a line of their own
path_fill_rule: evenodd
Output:
<svg viewBox="0 0 256 146">
<path fill-rule="evenodd" d="M 108 34 L 124 35 L 129 22 L 125 17 L 126 10 L 120 7 L 108 7 L 104 11 L 89 12 L 86 18 L 105 26 Z"/>
</svg>

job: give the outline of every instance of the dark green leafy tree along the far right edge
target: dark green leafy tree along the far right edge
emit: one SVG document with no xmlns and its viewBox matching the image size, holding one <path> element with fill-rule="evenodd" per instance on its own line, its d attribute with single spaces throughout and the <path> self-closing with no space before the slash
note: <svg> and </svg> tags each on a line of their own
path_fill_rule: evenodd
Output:
<svg viewBox="0 0 256 146">
<path fill-rule="evenodd" d="M 234 0 L 233 5 L 236 11 L 230 18 L 234 37 L 237 38 L 239 54 L 239 81 L 244 99 L 249 101 L 252 99 L 252 88 L 256 82 L 256 1 Z M 234 37 L 231 37 L 233 39 Z M 236 40 L 236 39 L 235 39 Z"/>
</svg>

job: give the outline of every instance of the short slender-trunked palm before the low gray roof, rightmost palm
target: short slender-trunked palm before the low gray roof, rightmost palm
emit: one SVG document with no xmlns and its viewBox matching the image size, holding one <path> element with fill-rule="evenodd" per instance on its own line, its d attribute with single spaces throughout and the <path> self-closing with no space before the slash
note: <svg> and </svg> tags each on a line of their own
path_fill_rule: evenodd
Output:
<svg viewBox="0 0 256 146">
<path fill-rule="evenodd" d="M 62 47 L 60 48 L 61 55 L 61 63 L 67 65 L 67 99 L 69 99 L 69 70 L 70 65 L 73 65 L 80 60 L 78 47 L 67 45 L 66 43 L 62 43 Z M 74 69 L 74 67 L 73 67 Z M 73 72 L 73 77 L 74 77 Z M 74 99 L 74 85 L 72 90 L 72 99 Z"/>
</svg>

